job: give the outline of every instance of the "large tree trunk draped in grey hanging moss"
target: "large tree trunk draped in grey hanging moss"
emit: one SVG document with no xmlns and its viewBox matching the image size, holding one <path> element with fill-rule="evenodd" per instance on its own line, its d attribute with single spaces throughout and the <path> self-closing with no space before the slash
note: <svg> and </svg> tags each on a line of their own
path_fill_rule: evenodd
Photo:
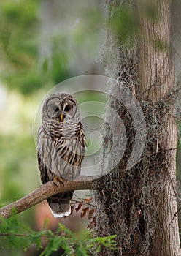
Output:
<svg viewBox="0 0 181 256">
<path fill-rule="evenodd" d="M 108 1 L 110 23 L 114 23 L 115 12 L 134 14 L 133 3 Z M 109 105 L 117 110 L 126 129 L 127 145 L 118 165 L 98 184 L 96 233 L 116 234 L 118 239 L 117 252 L 102 249 L 100 255 L 181 255 L 175 214 L 177 127 L 170 4 L 169 0 L 138 0 L 139 40 L 136 43 L 135 34 L 126 39 L 131 48 L 126 48 L 119 34 L 111 37 L 109 31 L 104 58 L 109 49 L 119 56 L 114 68 L 107 62 L 107 75 L 119 80 L 119 86 L 111 87 L 112 94 L 121 101 L 123 89 L 129 89 L 133 97 L 136 91 L 147 130 L 142 157 L 134 166 L 128 166 L 139 129 L 141 133 L 144 125 L 139 124 L 136 130 L 130 106 L 110 97 Z M 102 161 L 109 154 L 110 134 L 107 128 Z M 142 146 L 136 149 L 142 151 Z"/>
</svg>

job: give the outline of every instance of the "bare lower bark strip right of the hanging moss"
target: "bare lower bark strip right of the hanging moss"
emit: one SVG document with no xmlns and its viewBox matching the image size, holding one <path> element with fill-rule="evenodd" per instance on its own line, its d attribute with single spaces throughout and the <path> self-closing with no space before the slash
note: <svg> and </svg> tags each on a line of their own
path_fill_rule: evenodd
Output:
<svg viewBox="0 0 181 256">
<path fill-rule="evenodd" d="M 177 127 L 172 116 L 167 117 L 166 127 L 163 143 L 166 148 L 176 148 Z M 156 217 L 155 236 L 152 241 L 152 255 L 154 256 L 181 255 L 178 219 L 174 217 L 177 212 L 175 151 L 170 152 L 168 161 L 166 169 L 163 169 L 163 173 L 168 172 L 168 180 L 163 191 L 157 195 L 160 197 L 160 204 Z"/>
</svg>

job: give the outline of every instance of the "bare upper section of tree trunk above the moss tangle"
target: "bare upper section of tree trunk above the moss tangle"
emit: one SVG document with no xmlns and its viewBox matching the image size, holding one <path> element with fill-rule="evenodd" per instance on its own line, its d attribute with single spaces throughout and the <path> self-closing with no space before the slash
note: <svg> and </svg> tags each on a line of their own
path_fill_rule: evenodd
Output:
<svg viewBox="0 0 181 256">
<path fill-rule="evenodd" d="M 168 97 L 174 86 L 174 58 L 171 52 L 171 1 L 139 1 L 139 10 L 153 8 L 155 17 L 141 17 L 138 95 L 157 101 Z M 154 14 L 153 14 L 154 15 Z"/>
</svg>

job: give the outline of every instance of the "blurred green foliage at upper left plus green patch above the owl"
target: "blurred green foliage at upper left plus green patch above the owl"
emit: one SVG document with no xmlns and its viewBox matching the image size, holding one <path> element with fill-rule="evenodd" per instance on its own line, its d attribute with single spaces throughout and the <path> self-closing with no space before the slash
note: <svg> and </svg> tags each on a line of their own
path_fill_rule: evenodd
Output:
<svg viewBox="0 0 181 256">
<path fill-rule="evenodd" d="M 62 38 L 52 39 L 50 57 L 42 63 L 39 8 L 40 3 L 35 0 L 0 2 L 0 54 L 4 64 L 1 80 L 22 94 L 69 78 L 66 48 L 58 48 Z"/>
</svg>

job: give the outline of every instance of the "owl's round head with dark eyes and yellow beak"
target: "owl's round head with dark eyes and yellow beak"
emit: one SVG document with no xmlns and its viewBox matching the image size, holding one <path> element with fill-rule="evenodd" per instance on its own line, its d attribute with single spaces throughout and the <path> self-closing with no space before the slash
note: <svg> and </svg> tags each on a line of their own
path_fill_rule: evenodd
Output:
<svg viewBox="0 0 181 256">
<path fill-rule="evenodd" d="M 80 113 L 76 99 L 69 94 L 52 94 L 42 108 L 42 124 L 62 124 L 66 121 L 79 121 Z"/>
</svg>

